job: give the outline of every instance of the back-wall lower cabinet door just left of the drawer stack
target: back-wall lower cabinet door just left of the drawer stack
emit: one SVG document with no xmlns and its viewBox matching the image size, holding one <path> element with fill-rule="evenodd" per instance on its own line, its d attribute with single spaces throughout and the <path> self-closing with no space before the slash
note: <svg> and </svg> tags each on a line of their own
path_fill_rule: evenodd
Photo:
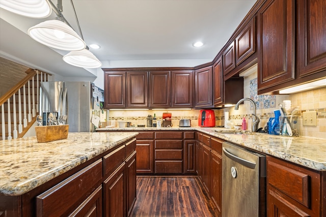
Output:
<svg viewBox="0 0 326 217">
<path fill-rule="evenodd" d="M 137 140 L 137 173 L 153 173 L 154 141 Z"/>
</svg>

